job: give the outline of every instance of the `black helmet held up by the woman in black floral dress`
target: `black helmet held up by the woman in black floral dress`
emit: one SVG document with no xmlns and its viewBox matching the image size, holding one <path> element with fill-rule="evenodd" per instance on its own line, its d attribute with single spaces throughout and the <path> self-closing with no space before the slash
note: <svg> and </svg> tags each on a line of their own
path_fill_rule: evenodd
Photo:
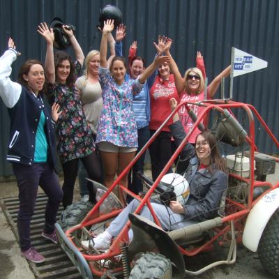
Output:
<svg viewBox="0 0 279 279">
<path fill-rule="evenodd" d="M 70 47 L 70 40 L 66 33 L 64 33 L 62 25 L 68 25 L 69 29 L 72 29 L 75 33 L 75 27 L 71 24 L 65 24 L 61 18 L 54 17 L 50 22 L 50 28 L 53 29 L 54 32 L 54 43 L 53 46 L 56 50 L 66 50 Z"/>
</svg>

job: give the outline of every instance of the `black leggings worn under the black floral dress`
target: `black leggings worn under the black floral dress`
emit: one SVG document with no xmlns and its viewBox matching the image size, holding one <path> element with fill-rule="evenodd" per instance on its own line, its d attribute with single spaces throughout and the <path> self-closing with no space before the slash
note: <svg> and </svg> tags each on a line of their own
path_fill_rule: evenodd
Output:
<svg viewBox="0 0 279 279">
<path fill-rule="evenodd" d="M 101 167 L 100 160 L 97 156 L 96 151 L 93 151 L 89 156 L 80 158 L 86 171 L 88 173 L 89 179 L 92 179 L 97 182 L 101 182 Z M 63 190 L 63 206 L 64 209 L 70 204 L 73 203 L 73 193 L 75 187 L 75 179 L 77 178 L 77 170 L 78 170 L 78 161 L 79 159 L 70 160 L 66 163 L 62 164 L 63 174 L 64 174 L 64 182 L 62 186 Z M 88 181 L 87 188 L 89 190 L 89 202 L 96 202 L 96 193 L 93 190 L 92 184 Z"/>
</svg>

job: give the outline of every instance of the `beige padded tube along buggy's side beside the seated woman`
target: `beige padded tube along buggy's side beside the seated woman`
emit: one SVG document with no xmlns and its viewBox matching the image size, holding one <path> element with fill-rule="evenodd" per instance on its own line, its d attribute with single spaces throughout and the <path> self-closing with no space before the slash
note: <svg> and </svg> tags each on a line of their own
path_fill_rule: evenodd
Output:
<svg viewBox="0 0 279 279">
<path fill-rule="evenodd" d="M 186 239 L 187 236 L 193 236 L 194 234 L 199 234 L 205 232 L 209 229 L 213 229 L 214 227 L 218 227 L 223 224 L 222 218 L 217 217 L 211 220 L 206 220 L 204 222 L 200 222 L 194 225 L 190 225 L 188 227 L 181 227 L 180 229 L 174 229 L 171 232 L 167 232 L 167 234 L 173 239 Z"/>
</svg>

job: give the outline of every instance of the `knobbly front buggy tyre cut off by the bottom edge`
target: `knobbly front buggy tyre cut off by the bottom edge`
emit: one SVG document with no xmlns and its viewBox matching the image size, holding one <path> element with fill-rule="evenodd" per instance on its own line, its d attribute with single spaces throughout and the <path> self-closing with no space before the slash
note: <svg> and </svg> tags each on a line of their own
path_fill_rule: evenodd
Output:
<svg viewBox="0 0 279 279">
<path fill-rule="evenodd" d="M 130 279 L 171 279 L 172 263 L 155 252 L 146 252 L 137 260 L 130 273 Z"/>
</svg>

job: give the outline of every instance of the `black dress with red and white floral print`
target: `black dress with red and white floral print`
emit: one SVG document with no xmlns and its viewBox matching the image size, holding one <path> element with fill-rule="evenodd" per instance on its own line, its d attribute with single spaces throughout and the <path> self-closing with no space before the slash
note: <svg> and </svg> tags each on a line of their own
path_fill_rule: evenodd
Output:
<svg viewBox="0 0 279 279">
<path fill-rule="evenodd" d="M 75 61 L 75 76 L 82 66 Z M 61 163 L 89 156 L 95 150 L 95 143 L 89 125 L 86 122 L 80 93 L 75 86 L 66 84 L 48 84 L 50 103 L 59 103 L 61 114 L 56 123 L 57 152 Z"/>
</svg>

